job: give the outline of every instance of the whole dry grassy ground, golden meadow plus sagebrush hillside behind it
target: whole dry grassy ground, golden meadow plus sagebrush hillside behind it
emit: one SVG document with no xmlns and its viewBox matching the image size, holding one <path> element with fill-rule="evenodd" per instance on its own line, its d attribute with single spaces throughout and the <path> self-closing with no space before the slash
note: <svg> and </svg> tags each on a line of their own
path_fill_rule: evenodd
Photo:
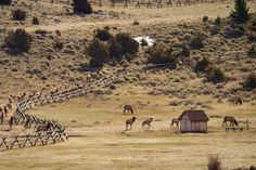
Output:
<svg viewBox="0 0 256 170">
<path fill-rule="evenodd" d="M 255 0 L 248 1 L 253 19 L 255 4 Z M 57 120 L 66 127 L 69 139 L 54 145 L 0 152 L 0 170 L 205 170 L 213 155 L 219 156 L 225 170 L 256 166 L 256 90 L 245 91 L 241 86 L 256 69 L 255 57 L 247 56 L 255 40 L 249 41 L 247 34 L 226 38 L 225 26 L 219 34 L 210 34 L 215 18 L 229 16 L 233 5 L 233 1 L 221 1 L 163 9 L 93 6 L 95 13 L 91 15 L 69 14 L 67 10 L 72 8 L 61 2 L 21 0 L 1 6 L 0 44 L 8 31 L 16 28 L 25 28 L 33 37 L 28 52 L 16 54 L 10 53 L 7 47 L 0 48 L 1 106 L 10 94 L 16 96 L 40 89 L 47 92 L 63 88 L 64 83 L 87 82 L 91 71 L 80 70 L 81 64 L 90 60 L 85 48 L 91 42 L 93 30 L 104 26 L 113 35 L 150 36 L 156 42 L 174 47 L 197 31 L 204 32 L 205 45 L 201 50 L 191 49 L 190 64 L 207 56 L 225 71 L 228 81 L 205 83 L 204 75 L 197 75 L 188 65 L 176 69 L 140 69 L 146 50 L 140 48 L 127 66 L 129 71 L 120 76 L 120 83 L 112 84 L 114 88 L 29 109 L 28 114 Z M 15 8 L 27 11 L 25 21 L 12 19 L 11 10 Z M 33 16 L 39 18 L 39 25 L 31 24 Z M 202 23 L 203 16 L 208 16 L 209 22 Z M 136 21 L 139 25 L 133 25 Z M 247 29 L 249 25 L 244 27 Z M 53 49 L 56 29 L 64 42 L 60 51 Z M 101 74 L 115 76 L 126 64 L 105 65 Z M 230 106 L 228 99 L 232 95 L 242 96 L 244 104 Z M 138 118 L 131 131 L 125 130 L 125 120 L 131 117 L 123 113 L 126 103 L 135 107 Z M 208 133 L 180 133 L 170 129 L 170 120 L 184 109 L 204 109 L 209 117 Z M 222 119 L 227 115 L 234 116 L 244 131 L 226 132 Z M 142 121 L 150 117 L 154 118 L 151 129 L 142 129 Z M 248 130 L 244 123 L 247 119 Z M 11 132 L 7 129 L 5 119 L 0 125 L 1 136 L 34 131 L 22 126 L 15 126 Z"/>
</svg>

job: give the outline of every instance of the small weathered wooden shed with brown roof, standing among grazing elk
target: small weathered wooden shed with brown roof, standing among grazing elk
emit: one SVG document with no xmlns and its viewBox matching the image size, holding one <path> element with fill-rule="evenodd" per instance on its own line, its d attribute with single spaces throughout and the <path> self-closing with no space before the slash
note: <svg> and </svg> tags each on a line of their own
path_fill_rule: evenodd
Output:
<svg viewBox="0 0 256 170">
<path fill-rule="evenodd" d="M 184 110 L 180 117 L 180 131 L 184 132 L 207 132 L 209 120 L 204 110 Z"/>
</svg>

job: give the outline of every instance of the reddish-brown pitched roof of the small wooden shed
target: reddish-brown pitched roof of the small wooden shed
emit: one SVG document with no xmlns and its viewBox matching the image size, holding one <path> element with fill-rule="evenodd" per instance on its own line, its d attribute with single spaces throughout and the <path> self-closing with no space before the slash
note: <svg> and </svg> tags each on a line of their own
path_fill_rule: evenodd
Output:
<svg viewBox="0 0 256 170">
<path fill-rule="evenodd" d="M 191 121 L 208 121 L 208 117 L 207 115 L 204 113 L 204 110 L 184 110 L 180 117 L 179 117 L 179 120 L 184 116 L 187 115 L 188 118 L 191 120 Z"/>
</svg>

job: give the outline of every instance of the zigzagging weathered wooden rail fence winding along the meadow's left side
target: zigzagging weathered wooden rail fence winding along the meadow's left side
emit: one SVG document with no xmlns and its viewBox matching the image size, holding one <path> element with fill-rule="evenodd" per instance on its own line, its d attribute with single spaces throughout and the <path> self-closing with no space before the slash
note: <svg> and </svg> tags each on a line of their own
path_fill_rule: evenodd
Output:
<svg viewBox="0 0 256 170">
<path fill-rule="evenodd" d="M 65 128 L 57 121 L 51 119 L 39 118 L 29 114 L 26 110 L 44 104 L 56 102 L 64 102 L 66 100 L 86 95 L 93 92 L 97 88 L 104 88 L 115 81 L 114 78 L 102 78 L 93 82 L 80 87 L 74 87 L 60 92 L 51 92 L 49 94 L 40 94 L 30 96 L 17 103 L 17 107 L 13 114 L 14 123 L 23 125 L 26 128 L 36 128 L 39 125 L 50 125 L 51 129 L 48 131 L 39 131 L 35 134 L 0 136 L 0 151 L 9 151 L 12 148 L 23 148 L 27 146 L 48 145 L 56 142 L 63 142 L 68 139 Z"/>
</svg>

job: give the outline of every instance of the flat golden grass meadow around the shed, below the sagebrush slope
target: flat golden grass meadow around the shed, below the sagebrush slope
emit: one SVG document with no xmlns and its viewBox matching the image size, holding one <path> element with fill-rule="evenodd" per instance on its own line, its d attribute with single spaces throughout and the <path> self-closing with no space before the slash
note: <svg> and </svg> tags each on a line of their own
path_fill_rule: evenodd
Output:
<svg viewBox="0 0 256 170">
<path fill-rule="evenodd" d="M 125 88 L 125 87 L 123 87 Z M 222 118 L 210 118 L 207 134 L 179 134 L 169 130 L 170 118 L 179 116 L 185 106 L 171 107 L 170 99 L 143 94 L 129 94 L 117 89 L 119 95 L 82 97 L 61 104 L 29 110 L 39 117 L 53 118 L 67 127 L 67 142 L 0 153 L 4 169 L 205 169 L 209 155 L 219 155 L 223 167 L 231 169 L 255 164 L 256 130 L 255 105 L 229 106 L 227 102 L 213 102 L 206 109 L 210 115 L 233 115 L 239 120 L 249 119 L 251 129 L 244 132 L 225 132 Z M 210 96 L 201 96 L 196 102 Z M 138 101 L 146 103 L 140 106 Z M 214 101 L 214 100 L 213 100 Z M 138 120 L 132 131 L 126 132 L 124 103 L 135 105 Z M 148 103 L 149 102 L 149 103 Z M 156 105 L 157 104 L 157 105 Z M 90 106 L 89 106 L 90 105 Z M 145 117 L 153 121 L 151 130 L 142 130 Z M 74 121 L 75 120 L 75 121 Z M 244 126 L 244 125 L 242 125 Z M 12 160 L 15 160 L 13 164 Z"/>
</svg>

